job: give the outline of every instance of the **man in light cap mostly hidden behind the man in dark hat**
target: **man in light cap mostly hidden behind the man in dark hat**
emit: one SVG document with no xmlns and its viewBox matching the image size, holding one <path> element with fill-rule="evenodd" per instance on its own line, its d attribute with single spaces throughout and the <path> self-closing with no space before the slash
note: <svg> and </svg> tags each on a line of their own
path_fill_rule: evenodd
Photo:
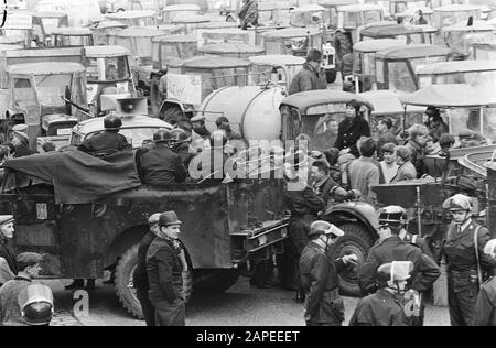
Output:
<svg viewBox="0 0 496 348">
<path fill-rule="evenodd" d="M 147 274 L 147 253 L 151 243 L 155 240 L 157 235 L 159 233 L 160 215 L 160 213 L 157 213 L 148 218 L 150 229 L 147 235 L 144 235 L 143 239 L 141 239 L 138 248 L 138 265 L 136 267 L 134 274 L 132 275 L 132 283 L 136 289 L 138 301 L 141 304 L 141 309 L 143 311 L 143 317 L 147 326 L 155 326 L 155 311 L 148 298 L 149 284 Z"/>
</svg>

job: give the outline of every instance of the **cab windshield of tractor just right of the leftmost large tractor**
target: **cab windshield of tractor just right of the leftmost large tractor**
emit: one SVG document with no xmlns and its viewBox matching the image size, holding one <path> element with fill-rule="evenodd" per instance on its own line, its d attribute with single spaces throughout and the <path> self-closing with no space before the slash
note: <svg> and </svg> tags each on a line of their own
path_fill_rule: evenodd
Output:
<svg viewBox="0 0 496 348">
<path fill-rule="evenodd" d="M 88 58 L 88 81 L 116 81 L 131 78 L 127 56 Z"/>
</svg>

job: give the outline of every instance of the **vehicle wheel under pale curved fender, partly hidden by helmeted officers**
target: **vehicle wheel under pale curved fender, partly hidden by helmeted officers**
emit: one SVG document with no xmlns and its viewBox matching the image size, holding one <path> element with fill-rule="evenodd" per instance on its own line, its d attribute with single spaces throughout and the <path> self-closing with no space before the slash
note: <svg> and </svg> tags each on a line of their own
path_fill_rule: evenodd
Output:
<svg viewBox="0 0 496 348">
<path fill-rule="evenodd" d="M 332 259 L 336 260 L 347 254 L 356 254 L 358 262 L 363 263 L 367 259 L 368 251 L 374 246 L 374 238 L 363 225 L 346 224 L 339 226 L 345 232 L 332 249 Z M 339 274 L 339 290 L 345 295 L 360 296 L 358 275 L 355 271 L 347 271 Z"/>
</svg>

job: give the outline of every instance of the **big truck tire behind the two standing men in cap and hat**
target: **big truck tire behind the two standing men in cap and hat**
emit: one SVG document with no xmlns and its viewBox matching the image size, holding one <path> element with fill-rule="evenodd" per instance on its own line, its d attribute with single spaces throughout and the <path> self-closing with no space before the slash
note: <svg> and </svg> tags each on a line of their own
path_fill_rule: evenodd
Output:
<svg viewBox="0 0 496 348">
<path fill-rule="evenodd" d="M 142 319 L 143 313 L 141 311 L 141 304 L 136 295 L 134 284 L 132 282 L 132 274 L 138 264 L 138 248 L 136 244 L 129 248 L 116 267 L 116 294 L 122 306 L 132 314 L 134 317 Z M 186 301 L 190 300 L 192 294 L 193 279 L 192 272 L 183 272 L 183 289 Z"/>
</svg>

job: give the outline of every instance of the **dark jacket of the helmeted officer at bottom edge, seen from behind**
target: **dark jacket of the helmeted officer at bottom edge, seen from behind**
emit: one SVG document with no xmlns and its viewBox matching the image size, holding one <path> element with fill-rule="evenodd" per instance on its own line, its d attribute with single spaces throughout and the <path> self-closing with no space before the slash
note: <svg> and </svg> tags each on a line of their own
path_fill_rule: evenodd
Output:
<svg viewBox="0 0 496 348">
<path fill-rule="evenodd" d="M 362 298 L 349 320 L 349 326 L 409 326 L 403 305 L 385 289 Z"/>
</svg>

